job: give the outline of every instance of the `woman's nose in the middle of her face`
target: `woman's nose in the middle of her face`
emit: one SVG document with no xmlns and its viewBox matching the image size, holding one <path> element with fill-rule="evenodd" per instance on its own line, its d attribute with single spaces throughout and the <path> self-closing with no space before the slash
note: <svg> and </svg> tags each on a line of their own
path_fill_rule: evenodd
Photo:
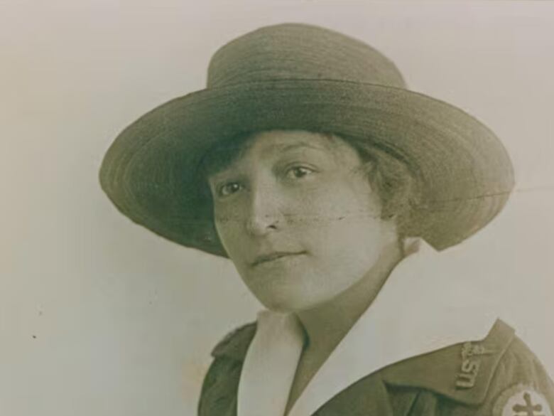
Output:
<svg viewBox="0 0 554 416">
<path fill-rule="evenodd" d="M 251 188 L 246 230 L 252 235 L 265 235 L 281 228 L 283 217 L 280 203 L 281 198 L 272 184 L 259 183 Z"/>
</svg>

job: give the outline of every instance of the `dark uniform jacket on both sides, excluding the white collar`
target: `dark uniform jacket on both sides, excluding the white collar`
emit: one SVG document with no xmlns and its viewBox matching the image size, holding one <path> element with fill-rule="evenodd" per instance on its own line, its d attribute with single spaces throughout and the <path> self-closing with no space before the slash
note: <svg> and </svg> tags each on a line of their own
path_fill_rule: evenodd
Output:
<svg viewBox="0 0 554 416">
<path fill-rule="evenodd" d="M 255 323 L 243 326 L 214 348 L 199 416 L 237 415 L 241 366 L 255 331 Z M 499 320 L 480 342 L 458 343 L 367 375 L 313 416 L 550 416 L 553 407 L 552 380 L 514 330 Z"/>
</svg>

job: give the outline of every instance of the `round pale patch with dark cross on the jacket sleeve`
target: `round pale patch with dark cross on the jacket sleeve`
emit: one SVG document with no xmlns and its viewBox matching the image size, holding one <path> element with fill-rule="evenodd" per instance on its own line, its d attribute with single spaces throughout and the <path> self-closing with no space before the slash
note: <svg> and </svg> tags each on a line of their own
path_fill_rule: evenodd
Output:
<svg viewBox="0 0 554 416">
<path fill-rule="evenodd" d="M 545 397 L 529 385 L 516 385 L 499 396 L 494 416 L 553 416 Z"/>
</svg>

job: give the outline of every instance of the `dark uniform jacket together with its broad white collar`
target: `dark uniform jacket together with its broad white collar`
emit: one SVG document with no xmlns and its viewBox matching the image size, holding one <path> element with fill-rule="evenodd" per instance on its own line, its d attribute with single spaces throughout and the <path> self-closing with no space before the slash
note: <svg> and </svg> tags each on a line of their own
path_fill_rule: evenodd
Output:
<svg viewBox="0 0 554 416">
<path fill-rule="evenodd" d="M 466 264 L 423 245 L 397 265 L 287 416 L 553 416 L 541 363 L 476 302 L 483 282 L 452 275 Z M 302 346 L 287 322 L 262 311 L 217 344 L 199 416 L 283 416 Z"/>
</svg>

